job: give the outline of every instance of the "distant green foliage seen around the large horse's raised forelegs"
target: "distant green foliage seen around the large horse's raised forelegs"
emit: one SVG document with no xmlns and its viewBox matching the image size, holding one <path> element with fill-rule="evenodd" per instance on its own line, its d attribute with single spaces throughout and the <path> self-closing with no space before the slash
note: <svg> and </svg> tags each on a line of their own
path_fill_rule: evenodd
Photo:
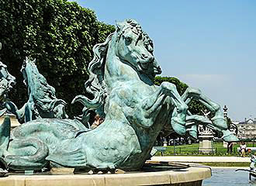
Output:
<svg viewBox="0 0 256 186">
<path fill-rule="evenodd" d="M 176 77 L 161 77 L 157 76 L 154 78 L 154 84 L 160 85 L 162 82 L 168 81 L 172 84 L 176 85 L 177 91 L 180 95 L 182 95 L 185 90 L 189 87 L 187 84 L 183 83 L 182 81 L 179 81 Z M 192 102 L 189 103 L 189 112 L 192 114 L 202 115 L 202 110 L 205 110 L 206 107 L 202 105 L 197 100 L 192 100 Z"/>
</svg>

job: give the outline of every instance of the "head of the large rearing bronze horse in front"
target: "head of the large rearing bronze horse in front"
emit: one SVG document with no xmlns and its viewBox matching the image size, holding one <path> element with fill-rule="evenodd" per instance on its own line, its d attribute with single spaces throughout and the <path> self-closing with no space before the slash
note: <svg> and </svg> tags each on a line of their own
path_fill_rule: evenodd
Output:
<svg viewBox="0 0 256 186">
<path fill-rule="evenodd" d="M 154 58 L 153 42 L 140 24 L 133 19 L 126 19 L 116 22 L 116 26 L 116 56 L 141 74 L 149 77 L 161 74 L 161 67 Z"/>
</svg>

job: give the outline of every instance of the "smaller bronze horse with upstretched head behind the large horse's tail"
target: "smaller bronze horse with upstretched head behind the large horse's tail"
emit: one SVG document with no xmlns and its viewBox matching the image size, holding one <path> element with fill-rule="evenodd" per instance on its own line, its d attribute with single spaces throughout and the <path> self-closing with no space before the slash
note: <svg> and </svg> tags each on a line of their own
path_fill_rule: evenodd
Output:
<svg viewBox="0 0 256 186">
<path fill-rule="evenodd" d="M 56 98 L 55 88 L 37 70 L 36 60 L 26 57 L 21 72 L 28 88 L 29 100 L 18 109 L 13 102 L 5 102 L 6 108 L 16 115 L 20 123 L 40 118 L 68 118 L 65 112 L 66 102 Z"/>
</svg>

